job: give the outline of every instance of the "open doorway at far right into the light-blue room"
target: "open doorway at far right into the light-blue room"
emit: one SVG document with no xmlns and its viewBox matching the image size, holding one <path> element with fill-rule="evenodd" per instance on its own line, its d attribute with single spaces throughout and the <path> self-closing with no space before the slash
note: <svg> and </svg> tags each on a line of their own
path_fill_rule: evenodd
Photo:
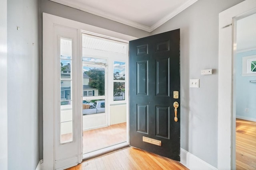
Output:
<svg viewBox="0 0 256 170">
<path fill-rule="evenodd" d="M 254 169 L 256 152 L 256 14 L 235 21 L 233 106 L 236 168 Z"/>
</svg>

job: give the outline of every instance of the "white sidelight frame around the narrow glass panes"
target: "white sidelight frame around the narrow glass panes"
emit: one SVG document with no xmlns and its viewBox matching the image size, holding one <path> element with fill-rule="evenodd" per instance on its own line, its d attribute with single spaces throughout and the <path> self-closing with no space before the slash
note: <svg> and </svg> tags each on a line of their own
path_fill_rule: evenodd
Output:
<svg viewBox="0 0 256 170">
<path fill-rule="evenodd" d="M 45 18 L 44 18 L 45 19 Z M 64 169 L 82 162 L 81 89 L 71 86 L 72 141 L 60 143 L 60 38 L 72 41 L 72 64 L 81 61 L 80 31 L 44 20 L 43 26 L 43 129 L 44 169 Z M 79 69 L 71 70 L 72 84 L 81 84 Z M 81 86 L 79 86 L 81 87 Z"/>
</svg>

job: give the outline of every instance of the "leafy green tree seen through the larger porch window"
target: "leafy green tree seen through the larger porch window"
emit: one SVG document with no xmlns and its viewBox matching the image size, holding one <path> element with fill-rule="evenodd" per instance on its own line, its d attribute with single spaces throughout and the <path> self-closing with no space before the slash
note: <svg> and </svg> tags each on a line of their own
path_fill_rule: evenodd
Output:
<svg viewBox="0 0 256 170">
<path fill-rule="evenodd" d="M 98 89 L 99 96 L 105 95 L 105 69 L 90 68 L 84 73 L 90 77 L 88 85 Z"/>
</svg>

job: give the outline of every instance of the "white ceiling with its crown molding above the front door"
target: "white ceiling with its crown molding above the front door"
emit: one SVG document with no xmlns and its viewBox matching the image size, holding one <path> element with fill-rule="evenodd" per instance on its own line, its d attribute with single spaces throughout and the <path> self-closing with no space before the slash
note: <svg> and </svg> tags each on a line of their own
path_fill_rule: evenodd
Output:
<svg viewBox="0 0 256 170">
<path fill-rule="evenodd" d="M 151 32 L 198 0 L 51 0 Z"/>
</svg>

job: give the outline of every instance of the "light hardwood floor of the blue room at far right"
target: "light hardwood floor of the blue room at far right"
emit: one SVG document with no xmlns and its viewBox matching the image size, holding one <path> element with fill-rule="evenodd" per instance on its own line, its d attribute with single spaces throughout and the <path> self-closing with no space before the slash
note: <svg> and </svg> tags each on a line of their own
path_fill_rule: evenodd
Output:
<svg viewBox="0 0 256 170">
<path fill-rule="evenodd" d="M 256 170 L 256 122 L 236 119 L 236 170 Z"/>
</svg>

